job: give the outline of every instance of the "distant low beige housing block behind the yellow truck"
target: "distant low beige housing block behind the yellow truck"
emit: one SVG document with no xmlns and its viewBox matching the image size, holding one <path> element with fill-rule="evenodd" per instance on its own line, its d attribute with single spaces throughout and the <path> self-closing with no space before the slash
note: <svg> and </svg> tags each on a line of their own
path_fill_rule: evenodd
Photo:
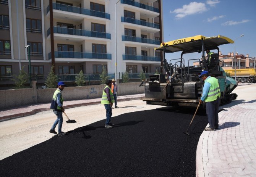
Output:
<svg viewBox="0 0 256 177">
<path fill-rule="evenodd" d="M 219 51 L 219 60 L 222 61 L 220 62 L 220 66 L 224 70 L 235 69 L 235 64 L 236 69 L 256 68 L 256 57 L 249 57 L 249 54 L 243 55 L 236 53 L 234 56 L 234 52 L 229 52 L 227 55 L 223 55 Z M 199 66 L 199 62 L 194 62 L 193 66 Z"/>
</svg>

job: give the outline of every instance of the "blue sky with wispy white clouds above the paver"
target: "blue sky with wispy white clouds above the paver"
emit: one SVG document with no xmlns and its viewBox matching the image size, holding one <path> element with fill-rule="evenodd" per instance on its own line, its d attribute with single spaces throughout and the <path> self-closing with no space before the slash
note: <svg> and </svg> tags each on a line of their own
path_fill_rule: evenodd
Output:
<svg viewBox="0 0 256 177">
<path fill-rule="evenodd" d="M 220 45 L 220 51 L 226 55 L 236 48 L 238 54 L 256 56 L 256 0 L 162 0 L 162 3 L 163 42 L 219 34 L 234 40 L 244 34 L 235 40 L 235 45 Z M 195 59 L 201 54 L 184 57 Z M 180 53 L 168 54 L 166 58 L 180 58 Z"/>
</svg>

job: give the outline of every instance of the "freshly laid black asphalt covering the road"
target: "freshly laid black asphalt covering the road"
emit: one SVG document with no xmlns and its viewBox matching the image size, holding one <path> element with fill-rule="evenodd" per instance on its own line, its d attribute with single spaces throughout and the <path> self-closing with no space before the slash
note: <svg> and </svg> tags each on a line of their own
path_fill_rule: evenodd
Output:
<svg viewBox="0 0 256 177">
<path fill-rule="evenodd" d="M 56 135 L 1 160 L 0 176 L 194 177 L 196 147 L 207 125 L 206 114 L 198 111 L 190 135 L 184 134 L 194 111 L 124 113 L 112 117 L 113 129 L 102 120 Z"/>
</svg>

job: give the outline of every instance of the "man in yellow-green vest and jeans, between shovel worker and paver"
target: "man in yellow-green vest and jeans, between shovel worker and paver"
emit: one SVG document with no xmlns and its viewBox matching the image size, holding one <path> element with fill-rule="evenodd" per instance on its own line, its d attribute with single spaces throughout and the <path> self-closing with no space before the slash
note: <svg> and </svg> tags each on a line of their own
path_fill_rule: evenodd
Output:
<svg viewBox="0 0 256 177">
<path fill-rule="evenodd" d="M 104 104 L 105 109 L 106 109 L 105 127 L 109 128 L 109 129 L 113 128 L 113 124 L 110 123 L 110 119 L 112 116 L 112 108 L 111 107 L 113 106 L 113 103 L 114 103 L 114 96 L 110 89 L 111 84 L 112 84 L 112 81 L 107 80 L 106 87 L 103 90 L 102 98 L 101 98 L 101 104 Z"/>
</svg>

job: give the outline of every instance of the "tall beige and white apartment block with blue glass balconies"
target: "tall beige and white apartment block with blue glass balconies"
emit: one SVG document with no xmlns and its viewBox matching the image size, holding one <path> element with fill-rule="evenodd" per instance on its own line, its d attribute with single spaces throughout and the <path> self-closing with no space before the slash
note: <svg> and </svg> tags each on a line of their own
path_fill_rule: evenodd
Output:
<svg viewBox="0 0 256 177">
<path fill-rule="evenodd" d="M 161 0 L 0 0 L 0 77 L 160 70 Z M 30 46 L 30 47 L 27 47 Z M 27 47 L 27 48 L 26 48 Z"/>
</svg>

